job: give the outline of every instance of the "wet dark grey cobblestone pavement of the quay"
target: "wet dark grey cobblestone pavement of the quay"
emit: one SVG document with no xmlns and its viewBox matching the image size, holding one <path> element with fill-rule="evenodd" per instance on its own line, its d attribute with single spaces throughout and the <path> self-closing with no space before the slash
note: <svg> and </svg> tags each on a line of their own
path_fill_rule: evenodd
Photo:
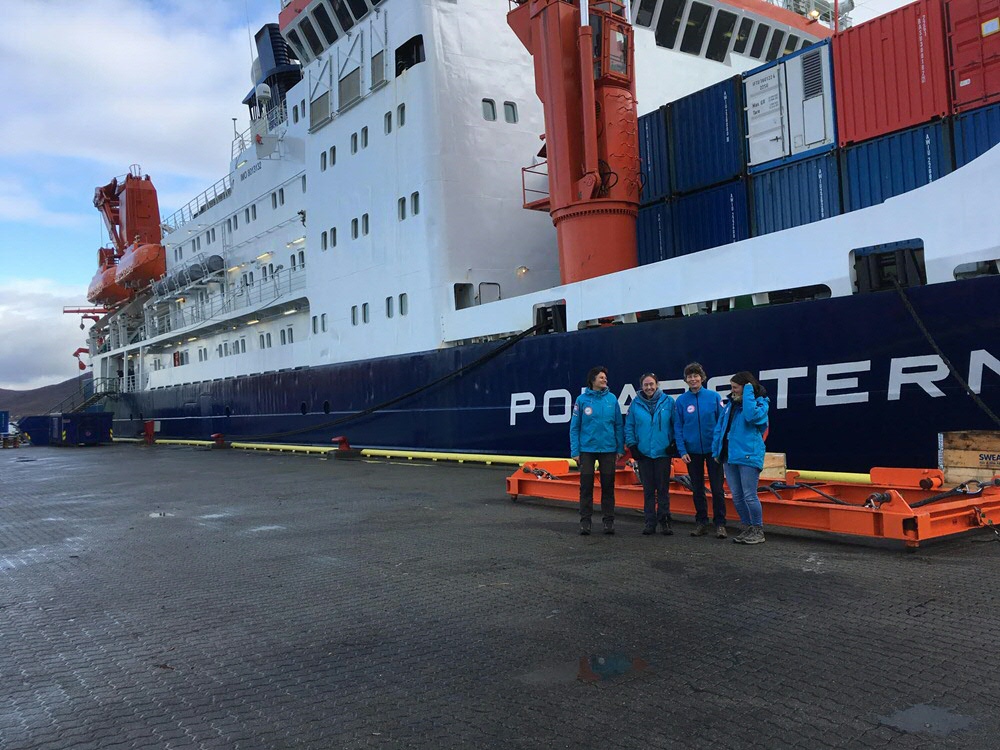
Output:
<svg viewBox="0 0 1000 750">
<path fill-rule="evenodd" d="M 580 537 L 507 472 L 0 452 L 0 747 L 1000 746 L 988 532 Z"/>
</svg>

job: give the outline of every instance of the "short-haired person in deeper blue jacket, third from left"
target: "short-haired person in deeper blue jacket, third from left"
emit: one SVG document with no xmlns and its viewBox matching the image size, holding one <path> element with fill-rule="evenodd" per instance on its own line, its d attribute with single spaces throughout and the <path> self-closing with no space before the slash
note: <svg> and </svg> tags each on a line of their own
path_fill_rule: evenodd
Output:
<svg viewBox="0 0 1000 750">
<path fill-rule="evenodd" d="M 708 523 L 708 501 L 705 499 L 705 468 L 712 488 L 712 526 L 715 536 L 726 538 L 726 492 L 722 486 L 722 465 L 712 460 L 712 438 L 722 414 L 722 397 L 705 387 L 708 375 L 697 362 L 684 368 L 688 390 L 677 397 L 674 407 L 674 440 L 677 454 L 688 465 L 691 492 L 694 495 L 694 531 L 691 536 L 705 536 Z"/>
</svg>

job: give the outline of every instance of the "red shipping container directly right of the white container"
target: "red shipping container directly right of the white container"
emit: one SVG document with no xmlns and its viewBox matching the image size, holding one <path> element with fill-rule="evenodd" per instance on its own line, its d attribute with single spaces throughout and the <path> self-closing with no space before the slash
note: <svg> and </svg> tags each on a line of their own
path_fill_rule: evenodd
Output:
<svg viewBox="0 0 1000 750">
<path fill-rule="evenodd" d="M 833 38 L 840 145 L 951 113 L 943 0 L 917 0 Z"/>
</svg>

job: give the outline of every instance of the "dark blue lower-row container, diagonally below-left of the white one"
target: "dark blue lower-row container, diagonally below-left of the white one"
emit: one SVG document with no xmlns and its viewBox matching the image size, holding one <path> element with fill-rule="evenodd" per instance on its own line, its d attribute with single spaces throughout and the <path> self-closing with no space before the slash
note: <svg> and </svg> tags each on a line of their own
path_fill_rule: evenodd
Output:
<svg viewBox="0 0 1000 750">
<path fill-rule="evenodd" d="M 750 236 L 747 185 L 726 185 L 678 198 L 674 203 L 677 255 L 728 245 Z"/>
</svg>

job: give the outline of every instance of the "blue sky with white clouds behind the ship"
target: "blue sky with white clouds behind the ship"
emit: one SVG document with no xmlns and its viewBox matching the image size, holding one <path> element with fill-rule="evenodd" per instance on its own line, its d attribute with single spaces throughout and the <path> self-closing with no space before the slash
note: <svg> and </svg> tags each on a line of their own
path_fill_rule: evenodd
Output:
<svg viewBox="0 0 1000 750">
<path fill-rule="evenodd" d="M 502 2 L 502 0 L 497 0 Z M 902 5 L 861 0 L 860 22 Z M 280 0 L 0 2 L 0 388 L 78 374 L 106 233 L 94 188 L 139 164 L 169 213 L 222 178 Z M 14 33 L 11 33 L 11 31 Z"/>
</svg>

